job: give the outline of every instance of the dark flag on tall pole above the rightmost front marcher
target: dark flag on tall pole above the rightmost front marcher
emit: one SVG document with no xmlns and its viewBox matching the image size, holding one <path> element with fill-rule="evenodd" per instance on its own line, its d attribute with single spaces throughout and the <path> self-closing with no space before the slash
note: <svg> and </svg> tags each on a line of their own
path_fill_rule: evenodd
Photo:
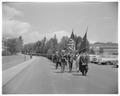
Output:
<svg viewBox="0 0 120 96">
<path fill-rule="evenodd" d="M 88 27 L 87 27 L 87 30 L 88 30 Z M 87 30 L 86 30 L 86 33 L 85 33 L 83 39 L 82 39 L 82 43 L 81 43 L 79 52 L 83 51 L 83 50 L 86 50 L 87 52 L 89 51 L 89 42 L 87 40 Z"/>
</svg>

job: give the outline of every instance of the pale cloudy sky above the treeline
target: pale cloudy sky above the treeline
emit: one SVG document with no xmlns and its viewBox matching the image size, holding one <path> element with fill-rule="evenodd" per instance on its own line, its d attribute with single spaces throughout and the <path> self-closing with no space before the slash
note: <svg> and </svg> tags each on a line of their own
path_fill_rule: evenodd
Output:
<svg viewBox="0 0 120 96">
<path fill-rule="evenodd" d="M 22 36 L 24 43 L 36 42 L 55 34 L 58 41 L 72 30 L 94 42 L 118 42 L 118 3 L 64 2 L 2 4 L 2 34 Z"/>
</svg>

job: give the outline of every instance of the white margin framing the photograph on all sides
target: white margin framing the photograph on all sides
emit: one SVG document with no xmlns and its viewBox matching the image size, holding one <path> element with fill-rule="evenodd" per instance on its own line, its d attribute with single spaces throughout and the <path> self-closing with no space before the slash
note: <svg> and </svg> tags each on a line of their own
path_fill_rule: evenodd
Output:
<svg viewBox="0 0 120 96">
<path fill-rule="evenodd" d="M 2 52 L 2 2 L 118 2 L 118 42 L 119 42 L 119 55 L 118 55 L 118 60 L 120 60 L 120 0 L 0 0 L 0 32 L 1 32 L 1 35 L 0 35 L 0 40 L 1 40 L 1 44 L 0 44 L 0 53 Z M 2 55 L 2 53 L 1 53 Z M 0 95 L 2 96 L 2 56 L 0 57 Z M 119 62 L 120 64 L 120 62 Z M 120 67 L 120 66 L 119 66 Z M 119 85 L 119 77 L 120 77 L 120 74 L 119 74 L 119 68 L 118 68 L 118 85 Z M 118 92 L 119 92 L 119 86 L 118 86 Z M 43 94 L 19 94 L 19 96 L 29 96 L 29 95 L 32 95 L 32 96 L 36 96 L 36 95 L 41 95 L 43 96 Z M 58 96 L 58 94 L 44 94 L 44 95 L 50 95 L 50 96 Z M 67 94 L 59 94 L 61 96 L 66 96 Z M 69 94 L 69 96 L 74 96 L 74 95 L 77 95 L 77 96 L 86 96 L 86 95 L 91 95 L 91 96 L 98 96 L 98 95 L 102 95 L 102 96 L 116 96 L 119 94 Z M 17 96 L 16 94 L 11 94 L 11 96 Z"/>
</svg>

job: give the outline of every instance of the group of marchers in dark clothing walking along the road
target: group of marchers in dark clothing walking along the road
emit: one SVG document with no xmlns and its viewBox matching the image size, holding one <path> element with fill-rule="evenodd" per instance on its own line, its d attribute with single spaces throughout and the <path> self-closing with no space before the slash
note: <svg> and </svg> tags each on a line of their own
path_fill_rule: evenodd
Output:
<svg viewBox="0 0 120 96">
<path fill-rule="evenodd" d="M 72 52 L 57 52 L 53 56 L 53 62 L 55 63 L 55 68 L 61 67 L 61 72 L 65 71 L 65 67 L 69 67 L 69 72 L 72 72 L 73 64 L 76 64 L 76 71 L 81 72 L 82 75 L 87 75 L 89 55 L 86 50 L 81 50 L 80 52 L 73 54 Z M 75 63 L 73 63 L 75 62 Z"/>
</svg>

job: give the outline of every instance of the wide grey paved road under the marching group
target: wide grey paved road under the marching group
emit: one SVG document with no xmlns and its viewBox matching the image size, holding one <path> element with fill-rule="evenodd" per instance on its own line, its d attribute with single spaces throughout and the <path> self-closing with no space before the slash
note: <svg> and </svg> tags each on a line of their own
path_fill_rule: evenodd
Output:
<svg viewBox="0 0 120 96">
<path fill-rule="evenodd" d="M 87 76 L 61 73 L 44 57 L 34 62 L 3 86 L 3 94 L 112 94 L 118 91 L 116 68 L 89 64 Z"/>
</svg>

